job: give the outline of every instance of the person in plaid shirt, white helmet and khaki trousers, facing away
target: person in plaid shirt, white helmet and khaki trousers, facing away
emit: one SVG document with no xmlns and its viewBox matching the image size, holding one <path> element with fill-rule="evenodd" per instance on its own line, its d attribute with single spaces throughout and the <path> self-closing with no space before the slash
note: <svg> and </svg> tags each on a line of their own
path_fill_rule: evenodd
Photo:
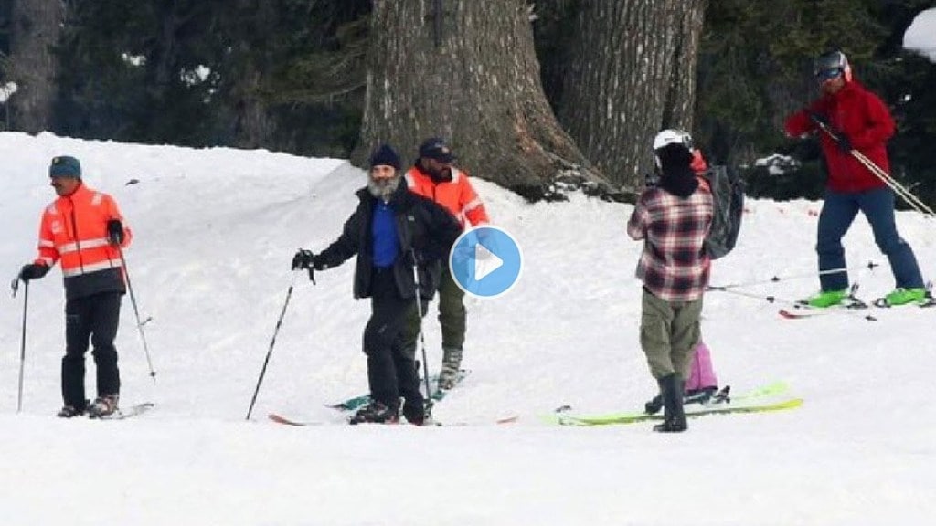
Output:
<svg viewBox="0 0 936 526">
<path fill-rule="evenodd" d="M 644 241 L 637 278 L 644 284 L 640 345 L 663 394 L 664 420 L 653 431 L 686 430 L 684 380 L 701 339 L 702 297 L 709 285 L 703 242 L 712 218 L 712 197 L 692 168 L 692 137 L 667 129 L 653 139 L 659 182 L 637 200 L 627 234 Z"/>
</svg>

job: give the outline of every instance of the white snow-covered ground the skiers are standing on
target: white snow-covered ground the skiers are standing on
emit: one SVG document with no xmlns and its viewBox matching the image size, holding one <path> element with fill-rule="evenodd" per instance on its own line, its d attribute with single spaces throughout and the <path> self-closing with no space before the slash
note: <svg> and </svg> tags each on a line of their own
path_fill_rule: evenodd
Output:
<svg viewBox="0 0 936 526">
<path fill-rule="evenodd" d="M 64 341 L 53 270 L 30 285 L 17 414 L 22 288 L 4 301 L 5 525 L 854 525 L 936 514 L 936 344 L 927 329 L 936 311 L 792 321 L 767 300 L 712 292 L 703 330 L 721 382 L 740 392 L 783 380 L 803 407 L 694 419 L 677 435 L 651 424 L 549 426 L 537 416 L 563 404 L 630 410 L 653 394 L 637 343 L 640 244 L 624 233 L 631 207 L 585 197 L 531 205 L 477 181 L 526 262 L 510 293 L 467 302 L 473 373 L 436 417 L 470 425 L 351 427 L 324 404 L 366 391 L 359 347 L 369 305 L 351 298 L 352 263 L 318 273 L 313 285 L 289 262 L 296 249 L 337 237 L 362 171 L 265 151 L 0 133 L 8 278 L 35 256 L 56 154 L 79 157 L 85 182 L 113 195 L 134 229 L 125 254 L 140 314 L 153 317 L 144 330 L 157 375 L 154 383 L 127 297 L 117 341 L 122 402 L 156 407 L 119 422 L 53 416 Z M 752 199 L 739 246 L 716 263 L 712 283 L 787 276 L 739 290 L 783 299 L 813 292 L 820 207 Z M 931 277 L 932 222 L 899 212 L 898 224 Z M 861 296 L 893 286 L 863 218 L 845 246 L 853 265 L 883 264 L 853 272 Z M 294 277 L 254 417 L 244 421 Z M 433 304 L 426 318 L 432 369 L 441 360 L 435 312 Z M 273 411 L 324 425 L 272 424 Z M 512 415 L 516 423 L 492 423 Z"/>
</svg>

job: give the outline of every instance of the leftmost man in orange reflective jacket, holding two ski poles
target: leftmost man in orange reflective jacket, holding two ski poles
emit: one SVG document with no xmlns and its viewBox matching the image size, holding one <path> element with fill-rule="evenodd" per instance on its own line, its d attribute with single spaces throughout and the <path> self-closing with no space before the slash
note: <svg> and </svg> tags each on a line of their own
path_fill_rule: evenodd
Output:
<svg viewBox="0 0 936 526">
<path fill-rule="evenodd" d="M 121 247 L 130 242 L 130 230 L 113 198 L 81 183 L 81 165 L 75 157 L 52 158 L 51 186 L 59 196 L 42 214 L 39 256 L 20 271 L 27 282 L 46 275 L 62 262 L 66 292 L 66 354 L 62 358 L 62 398 L 58 416 L 88 413 L 110 416 L 117 411 L 120 371 L 114 338 L 120 322 L 121 296 L 126 291 Z M 97 398 L 84 398 L 84 354 L 94 344 Z"/>
</svg>

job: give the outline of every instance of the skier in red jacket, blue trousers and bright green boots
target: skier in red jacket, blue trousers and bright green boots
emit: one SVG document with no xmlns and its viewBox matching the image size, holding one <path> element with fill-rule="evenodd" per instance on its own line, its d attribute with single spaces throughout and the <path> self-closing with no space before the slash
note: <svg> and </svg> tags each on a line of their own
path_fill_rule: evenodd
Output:
<svg viewBox="0 0 936 526">
<path fill-rule="evenodd" d="M 853 150 L 863 153 L 885 172 L 890 171 L 886 141 L 894 135 L 894 120 L 885 103 L 855 80 L 848 59 L 841 51 L 821 55 L 814 74 L 822 95 L 786 120 L 791 137 L 819 132 L 826 157 L 828 181 L 819 214 L 819 282 L 822 290 L 804 302 L 812 307 L 838 305 L 848 297 L 848 273 L 841 238 L 862 212 L 874 232 L 874 241 L 890 262 L 897 288 L 883 299 L 887 305 L 923 301 L 926 288 L 914 251 L 897 232 L 894 193 L 887 184 L 858 161 Z M 833 138 L 820 130 L 827 126 Z"/>
</svg>

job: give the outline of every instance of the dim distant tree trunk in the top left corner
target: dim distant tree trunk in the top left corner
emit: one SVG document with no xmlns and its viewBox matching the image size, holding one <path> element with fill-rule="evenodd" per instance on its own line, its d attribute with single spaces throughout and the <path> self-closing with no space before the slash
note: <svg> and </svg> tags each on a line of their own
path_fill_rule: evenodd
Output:
<svg viewBox="0 0 936 526">
<path fill-rule="evenodd" d="M 10 78 L 18 91 L 9 98 L 13 129 L 38 133 L 52 128 L 55 55 L 65 23 L 61 0 L 14 0 L 10 36 Z"/>
</svg>

